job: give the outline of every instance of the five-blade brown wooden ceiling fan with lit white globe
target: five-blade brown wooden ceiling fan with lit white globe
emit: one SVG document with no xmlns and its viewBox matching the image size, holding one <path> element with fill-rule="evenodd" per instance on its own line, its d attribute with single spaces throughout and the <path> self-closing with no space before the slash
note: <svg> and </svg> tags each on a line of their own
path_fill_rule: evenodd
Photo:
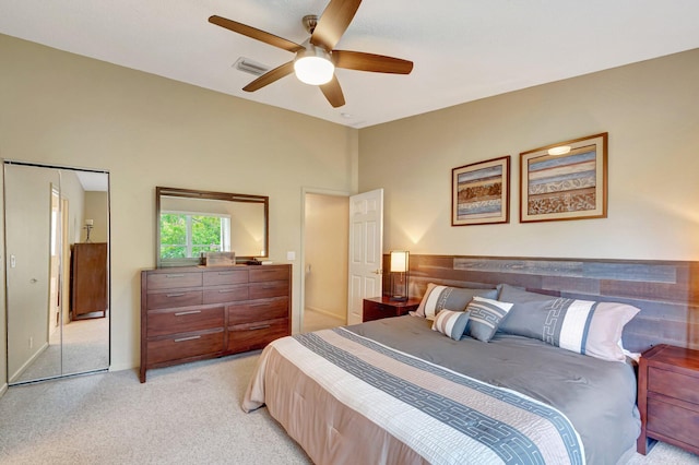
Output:
<svg viewBox="0 0 699 465">
<path fill-rule="evenodd" d="M 345 97 L 335 76 L 335 68 L 392 74 L 410 74 L 413 70 L 412 61 L 400 58 L 362 51 L 334 50 L 335 45 L 337 45 L 357 12 L 359 3 L 362 3 L 362 0 L 330 0 L 320 17 L 313 14 L 304 16 L 301 21 L 310 37 L 303 44 L 296 44 L 274 34 L 217 15 L 209 17 L 209 22 L 234 33 L 242 34 L 296 53 L 292 61 L 262 74 L 242 87 L 244 91 L 259 91 L 265 85 L 295 73 L 301 82 L 319 85 L 330 105 L 337 108 L 345 104 Z"/>
</svg>

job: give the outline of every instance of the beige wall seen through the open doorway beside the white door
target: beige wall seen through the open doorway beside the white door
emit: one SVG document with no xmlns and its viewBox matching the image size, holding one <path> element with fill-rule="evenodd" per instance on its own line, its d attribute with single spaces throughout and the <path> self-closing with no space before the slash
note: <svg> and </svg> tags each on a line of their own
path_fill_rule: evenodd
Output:
<svg viewBox="0 0 699 465">
<path fill-rule="evenodd" d="M 305 307 L 345 320 L 350 200 L 307 193 L 305 216 Z"/>
</svg>

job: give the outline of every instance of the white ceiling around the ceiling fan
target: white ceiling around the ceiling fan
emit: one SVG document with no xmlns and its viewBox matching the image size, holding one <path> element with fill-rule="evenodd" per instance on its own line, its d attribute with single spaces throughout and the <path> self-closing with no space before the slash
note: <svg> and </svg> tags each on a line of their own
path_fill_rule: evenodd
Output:
<svg viewBox="0 0 699 465">
<path fill-rule="evenodd" d="M 412 60 L 410 75 L 337 70 L 341 108 L 293 75 L 242 92 L 239 57 L 293 55 L 209 16 L 300 44 L 328 1 L 0 0 L 0 33 L 354 128 L 699 47 L 697 0 L 365 0 L 336 48 Z"/>
</svg>

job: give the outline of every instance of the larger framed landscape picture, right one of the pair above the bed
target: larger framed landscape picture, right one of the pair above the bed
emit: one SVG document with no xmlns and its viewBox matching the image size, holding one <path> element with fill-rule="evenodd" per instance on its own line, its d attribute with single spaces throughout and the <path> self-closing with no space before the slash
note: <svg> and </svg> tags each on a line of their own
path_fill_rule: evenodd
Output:
<svg viewBox="0 0 699 465">
<path fill-rule="evenodd" d="M 521 223 L 606 216 L 606 132 L 520 154 Z"/>
</svg>

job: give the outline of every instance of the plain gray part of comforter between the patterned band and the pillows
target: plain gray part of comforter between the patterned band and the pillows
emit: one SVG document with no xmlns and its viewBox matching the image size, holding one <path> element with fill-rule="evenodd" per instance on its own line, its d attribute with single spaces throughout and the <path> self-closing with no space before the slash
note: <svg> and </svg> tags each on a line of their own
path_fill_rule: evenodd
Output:
<svg viewBox="0 0 699 465">
<path fill-rule="evenodd" d="M 633 450 L 640 419 L 630 365 L 507 334 L 496 334 L 489 343 L 470 337 L 457 342 L 431 331 L 430 325 L 422 318 L 400 317 L 347 329 L 557 408 L 580 434 L 589 464 L 616 464 Z"/>
</svg>

